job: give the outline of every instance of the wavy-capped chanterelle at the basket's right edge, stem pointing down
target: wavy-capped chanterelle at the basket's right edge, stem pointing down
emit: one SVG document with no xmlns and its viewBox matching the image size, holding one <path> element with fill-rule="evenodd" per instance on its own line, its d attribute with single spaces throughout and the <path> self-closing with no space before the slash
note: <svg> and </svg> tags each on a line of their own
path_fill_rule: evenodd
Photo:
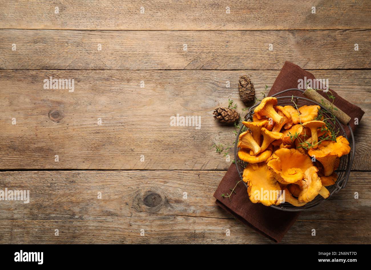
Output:
<svg viewBox="0 0 371 270">
<path fill-rule="evenodd" d="M 324 166 L 324 175 L 329 176 L 334 171 L 336 158 L 347 155 L 350 152 L 349 142 L 343 136 L 335 141 L 322 141 L 317 149 L 309 149 L 308 154 Z"/>
</svg>

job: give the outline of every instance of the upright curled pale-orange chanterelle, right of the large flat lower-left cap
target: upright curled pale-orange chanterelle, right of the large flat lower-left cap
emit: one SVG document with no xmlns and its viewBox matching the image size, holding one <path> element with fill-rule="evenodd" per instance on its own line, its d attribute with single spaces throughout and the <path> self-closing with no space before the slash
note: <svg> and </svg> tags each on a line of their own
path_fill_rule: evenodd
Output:
<svg viewBox="0 0 371 270">
<path fill-rule="evenodd" d="M 314 166 L 306 169 L 305 178 L 302 180 L 303 185 L 298 197 L 300 202 L 309 203 L 319 194 L 319 191 L 321 191 L 322 182 L 317 172 L 318 169 Z"/>
</svg>

